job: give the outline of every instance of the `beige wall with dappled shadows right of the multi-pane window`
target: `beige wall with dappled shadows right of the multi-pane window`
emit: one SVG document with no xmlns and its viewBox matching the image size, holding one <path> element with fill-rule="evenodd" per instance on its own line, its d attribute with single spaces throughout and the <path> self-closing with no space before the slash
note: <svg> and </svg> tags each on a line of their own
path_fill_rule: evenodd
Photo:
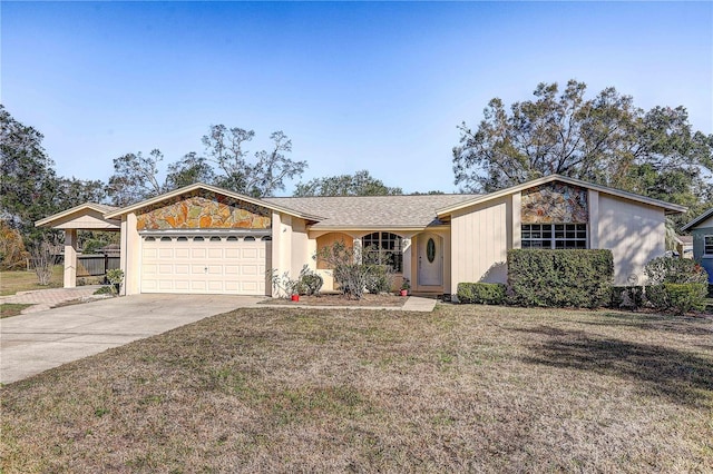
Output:
<svg viewBox="0 0 713 474">
<path fill-rule="evenodd" d="M 666 250 L 664 210 L 604 194 L 598 208 L 598 248 L 614 255 L 615 285 L 626 285 L 629 275 L 643 284 L 646 263 Z"/>
</svg>

